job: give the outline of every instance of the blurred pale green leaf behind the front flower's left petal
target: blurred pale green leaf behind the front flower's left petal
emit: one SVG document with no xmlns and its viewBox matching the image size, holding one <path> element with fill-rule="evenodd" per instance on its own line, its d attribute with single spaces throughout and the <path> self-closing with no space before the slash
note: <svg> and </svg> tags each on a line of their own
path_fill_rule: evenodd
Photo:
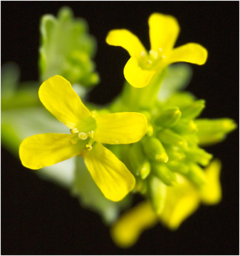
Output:
<svg viewBox="0 0 240 256">
<path fill-rule="evenodd" d="M 25 137 L 45 132 L 69 132 L 44 108 L 16 108 L 1 111 L 1 143 L 18 158 L 18 148 Z M 73 181 L 74 159 L 31 172 L 45 180 L 69 188 Z"/>
</svg>

